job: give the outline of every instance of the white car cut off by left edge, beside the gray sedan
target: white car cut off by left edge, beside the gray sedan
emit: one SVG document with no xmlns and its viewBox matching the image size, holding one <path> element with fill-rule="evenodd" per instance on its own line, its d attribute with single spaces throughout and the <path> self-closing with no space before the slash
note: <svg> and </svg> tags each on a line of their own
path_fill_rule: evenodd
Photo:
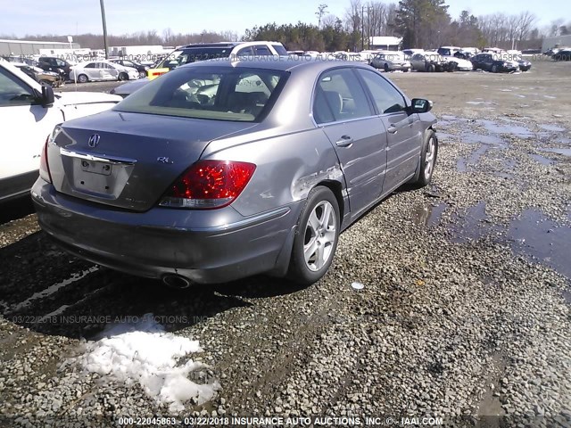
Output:
<svg viewBox="0 0 571 428">
<path fill-rule="evenodd" d="M 110 109 L 120 100 L 94 92 L 54 95 L 52 87 L 0 59 L 0 202 L 29 192 L 38 177 L 42 147 L 56 125 Z"/>
</svg>

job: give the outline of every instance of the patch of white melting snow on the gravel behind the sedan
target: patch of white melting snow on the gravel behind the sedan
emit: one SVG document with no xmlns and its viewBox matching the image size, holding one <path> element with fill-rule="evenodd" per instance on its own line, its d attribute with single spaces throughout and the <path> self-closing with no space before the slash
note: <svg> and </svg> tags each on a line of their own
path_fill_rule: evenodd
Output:
<svg viewBox="0 0 571 428">
<path fill-rule="evenodd" d="M 211 400 L 220 385 L 194 383 L 189 374 L 200 374 L 209 366 L 180 358 L 202 352 L 198 341 L 191 341 L 164 331 L 153 314 L 145 314 L 135 323 L 108 325 L 101 339 L 82 345 L 79 357 L 64 364 L 79 365 L 88 372 L 108 376 L 132 385 L 139 383 L 158 403 L 169 404 L 170 411 L 184 410 L 184 402 L 194 399 L 197 404 Z"/>
</svg>

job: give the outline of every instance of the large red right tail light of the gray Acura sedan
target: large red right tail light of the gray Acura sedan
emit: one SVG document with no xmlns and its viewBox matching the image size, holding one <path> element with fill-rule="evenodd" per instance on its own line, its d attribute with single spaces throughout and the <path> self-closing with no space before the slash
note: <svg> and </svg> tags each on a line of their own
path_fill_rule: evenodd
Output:
<svg viewBox="0 0 571 428">
<path fill-rule="evenodd" d="M 160 205 L 211 210 L 232 203 L 252 178 L 253 163 L 198 161 L 178 178 Z"/>
</svg>

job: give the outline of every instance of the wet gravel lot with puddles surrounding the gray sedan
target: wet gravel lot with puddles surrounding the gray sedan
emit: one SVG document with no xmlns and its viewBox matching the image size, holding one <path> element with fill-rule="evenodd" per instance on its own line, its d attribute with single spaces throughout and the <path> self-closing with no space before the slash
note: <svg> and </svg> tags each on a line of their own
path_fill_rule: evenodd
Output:
<svg viewBox="0 0 571 428">
<path fill-rule="evenodd" d="M 167 289 L 67 255 L 34 214 L 18 218 L 28 202 L 10 204 L 0 426 L 199 415 L 571 425 L 570 75 L 571 63 L 555 62 L 513 75 L 393 73 L 408 95 L 434 101 L 433 185 L 368 212 L 307 288 L 257 276 Z M 78 358 L 108 324 L 149 313 L 200 342 L 190 358 L 210 368 L 191 378 L 219 384 L 213 399 L 173 410 L 140 383 L 82 370 Z"/>
</svg>

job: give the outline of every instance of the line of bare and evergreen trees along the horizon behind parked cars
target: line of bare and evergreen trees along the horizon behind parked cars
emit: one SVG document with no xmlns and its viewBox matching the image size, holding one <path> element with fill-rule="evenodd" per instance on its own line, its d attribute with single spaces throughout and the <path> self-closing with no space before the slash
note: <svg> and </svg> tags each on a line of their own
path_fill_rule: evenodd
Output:
<svg viewBox="0 0 571 428">
<path fill-rule="evenodd" d="M 242 37 L 236 31 L 174 33 L 164 29 L 140 31 L 130 35 L 109 36 L 108 45 L 186 45 L 238 40 L 272 40 L 282 42 L 289 50 L 359 51 L 367 49 L 369 37 L 402 37 L 402 48 L 430 48 L 440 45 L 495 46 L 503 49 L 540 48 L 543 37 L 571 34 L 571 21 L 563 19 L 539 28 L 531 12 L 493 13 L 475 16 L 462 11 L 451 17 L 445 0 L 401 0 L 397 3 L 350 0 L 343 16 L 328 12 L 327 4 L 319 4 L 311 23 L 267 23 L 245 29 Z M 15 38 L 0 36 L 0 38 Z M 67 36 L 26 35 L 26 40 L 67 42 Z M 103 37 L 96 34 L 74 36 L 82 47 L 103 48 Z"/>
</svg>

